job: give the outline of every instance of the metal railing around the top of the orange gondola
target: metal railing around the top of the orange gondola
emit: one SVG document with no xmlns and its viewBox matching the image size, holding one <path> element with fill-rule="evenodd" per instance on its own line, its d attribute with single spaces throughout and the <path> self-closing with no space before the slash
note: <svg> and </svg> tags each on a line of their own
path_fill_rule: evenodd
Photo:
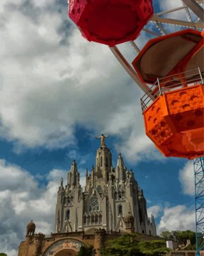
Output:
<svg viewBox="0 0 204 256">
<path fill-rule="evenodd" d="M 152 96 L 157 99 L 159 95 L 162 95 L 165 92 L 192 86 L 196 83 L 203 84 L 203 81 L 203 74 L 199 67 L 171 76 L 157 78 L 157 81 L 150 87 L 150 90 L 148 90 L 148 92 L 146 92 L 140 99 L 142 113 L 153 102 L 151 99 Z"/>
</svg>

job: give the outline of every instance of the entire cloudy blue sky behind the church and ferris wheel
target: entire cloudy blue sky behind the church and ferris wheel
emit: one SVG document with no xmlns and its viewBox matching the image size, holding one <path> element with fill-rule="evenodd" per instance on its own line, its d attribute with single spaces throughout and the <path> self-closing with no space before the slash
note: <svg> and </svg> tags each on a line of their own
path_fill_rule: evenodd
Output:
<svg viewBox="0 0 204 256">
<path fill-rule="evenodd" d="M 156 12 L 181 5 L 153 4 Z M 36 232 L 53 232 L 61 177 L 76 159 L 84 184 L 101 133 L 110 136 L 113 164 L 121 152 L 134 171 L 157 234 L 194 230 L 192 161 L 157 151 L 145 136 L 143 92 L 106 45 L 82 38 L 67 12 L 63 0 L 0 1 L 0 252 L 17 255 L 31 219 Z M 137 45 L 150 38 L 141 32 Z M 136 57 L 129 43 L 118 47 Z"/>
</svg>

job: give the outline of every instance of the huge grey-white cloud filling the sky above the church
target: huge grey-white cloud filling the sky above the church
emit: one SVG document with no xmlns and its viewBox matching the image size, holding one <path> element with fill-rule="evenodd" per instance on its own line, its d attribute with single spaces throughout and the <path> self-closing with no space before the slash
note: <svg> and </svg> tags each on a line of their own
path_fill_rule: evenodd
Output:
<svg viewBox="0 0 204 256">
<path fill-rule="evenodd" d="M 118 136 L 117 148 L 129 159 L 155 157 L 144 135 L 142 92 L 108 47 L 84 40 L 68 20 L 66 37 L 67 10 L 46 9 L 47 1 L 32 1 L 26 12 L 9 3 L 15 4 L 6 3 L 0 30 L 0 136 L 15 141 L 16 152 L 63 148 L 76 146 L 80 124 Z"/>
</svg>

